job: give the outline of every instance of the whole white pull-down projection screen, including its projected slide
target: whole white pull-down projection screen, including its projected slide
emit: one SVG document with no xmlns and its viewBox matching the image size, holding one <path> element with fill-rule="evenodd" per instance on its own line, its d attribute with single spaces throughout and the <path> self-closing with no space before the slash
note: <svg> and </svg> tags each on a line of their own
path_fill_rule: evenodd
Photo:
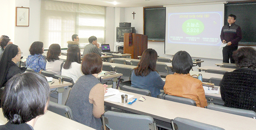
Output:
<svg viewBox="0 0 256 130">
<path fill-rule="evenodd" d="M 223 17 L 223 3 L 166 7 L 165 54 L 183 50 L 195 58 L 222 59 Z"/>
</svg>

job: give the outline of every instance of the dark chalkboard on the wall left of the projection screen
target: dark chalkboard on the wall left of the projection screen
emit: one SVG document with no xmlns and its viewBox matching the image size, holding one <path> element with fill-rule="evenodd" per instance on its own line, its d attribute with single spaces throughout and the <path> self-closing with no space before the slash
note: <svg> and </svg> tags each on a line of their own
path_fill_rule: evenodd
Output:
<svg viewBox="0 0 256 130">
<path fill-rule="evenodd" d="M 165 7 L 144 7 L 144 35 L 149 41 L 165 40 Z"/>
</svg>

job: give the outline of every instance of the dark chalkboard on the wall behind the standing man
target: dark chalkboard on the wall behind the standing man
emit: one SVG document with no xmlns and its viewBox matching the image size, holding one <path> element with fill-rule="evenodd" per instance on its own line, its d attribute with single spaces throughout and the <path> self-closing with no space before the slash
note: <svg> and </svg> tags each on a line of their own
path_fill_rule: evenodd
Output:
<svg viewBox="0 0 256 130">
<path fill-rule="evenodd" d="M 256 46 L 256 2 L 225 4 L 224 24 L 229 14 L 236 15 L 236 25 L 242 29 L 239 45 Z"/>
</svg>

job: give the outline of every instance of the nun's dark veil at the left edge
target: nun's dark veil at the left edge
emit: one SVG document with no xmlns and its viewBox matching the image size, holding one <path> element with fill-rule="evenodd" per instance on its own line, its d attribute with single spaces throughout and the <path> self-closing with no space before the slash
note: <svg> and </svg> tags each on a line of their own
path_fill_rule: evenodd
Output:
<svg viewBox="0 0 256 130">
<path fill-rule="evenodd" d="M 11 65 L 11 59 L 14 58 L 18 54 L 18 46 L 14 44 L 9 44 L 5 47 L 5 51 L 2 54 L 2 58 L 0 60 L 0 87 L 4 85 L 6 82 L 6 76 L 8 69 Z"/>
</svg>

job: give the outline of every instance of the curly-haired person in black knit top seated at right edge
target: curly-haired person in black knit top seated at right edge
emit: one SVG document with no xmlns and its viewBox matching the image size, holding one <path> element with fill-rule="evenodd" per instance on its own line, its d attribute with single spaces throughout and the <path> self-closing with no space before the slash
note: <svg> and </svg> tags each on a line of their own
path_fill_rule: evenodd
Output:
<svg viewBox="0 0 256 130">
<path fill-rule="evenodd" d="M 226 72 L 220 83 L 224 106 L 256 112 L 256 50 L 241 47 L 233 52 L 233 58 L 239 68 Z"/>
</svg>

